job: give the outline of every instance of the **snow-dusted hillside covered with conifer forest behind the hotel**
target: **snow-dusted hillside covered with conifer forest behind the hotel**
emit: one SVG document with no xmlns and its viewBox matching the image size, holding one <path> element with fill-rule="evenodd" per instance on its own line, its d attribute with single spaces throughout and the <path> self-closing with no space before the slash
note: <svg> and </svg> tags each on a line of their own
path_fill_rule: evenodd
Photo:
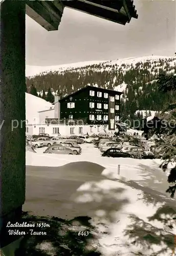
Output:
<svg viewBox="0 0 176 256">
<path fill-rule="evenodd" d="M 35 88 L 39 97 L 42 97 L 44 92 L 43 98 L 46 99 L 45 92 L 48 90 L 63 97 L 87 85 L 114 90 L 125 83 L 126 88 L 121 98 L 121 116 L 123 120 L 133 119 L 137 110 L 161 111 L 176 100 L 175 93 L 163 94 L 157 84 L 159 75 L 176 73 L 176 67 L 171 64 L 173 59 L 141 61 L 135 65 L 122 63 L 121 66 L 105 62 L 82 68 L 41 73 L 26 78 L 27 91 L 30 92 L 31 87 Z M 48 101 L 52 100 L 50 93 Z"/>
</svg>

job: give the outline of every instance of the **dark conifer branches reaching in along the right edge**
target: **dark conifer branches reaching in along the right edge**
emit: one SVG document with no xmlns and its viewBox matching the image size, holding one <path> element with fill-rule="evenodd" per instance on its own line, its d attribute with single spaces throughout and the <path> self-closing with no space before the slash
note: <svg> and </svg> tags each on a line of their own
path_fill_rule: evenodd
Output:
<svg viewBox="0 0 176 256">
<path fill-rule="evenodd" d="M 176 76 L 160 75 L 158 77 L 158 86 L 159 90 L 163 93 L 170 92 L 174 95 L 176 91 Z M 170 197 L 173 198 L 176 191 L 176 102 L 168 104 L 168 108 L 163 110 L 161 116 L 153 118 L 153 124 L 153 127 L 156 128 L 150 130 L 150 135 L 157 134 L 159 137 L 156 140 L 156 148 L 162 154 L 163 162 L 160 167 L 165 172 L 168 164 L 173 164 L 168 176 L 168 183 L 170 185 L 166 190 Z"/>
</svg>

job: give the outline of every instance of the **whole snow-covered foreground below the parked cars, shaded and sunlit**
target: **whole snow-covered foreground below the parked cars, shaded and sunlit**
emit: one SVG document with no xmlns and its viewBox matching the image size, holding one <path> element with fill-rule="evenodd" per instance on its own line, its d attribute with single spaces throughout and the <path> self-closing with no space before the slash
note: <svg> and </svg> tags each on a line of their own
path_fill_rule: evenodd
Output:
<svg viewBox="0 0 176 256">
<path fill-rule="evenodd" d="M 165 193 L 160 160 L 109 159 L 92 144 L 81 147 L 80 156 L 42 154 L 45 148 L 26 153 L 24 210 L 91 217 L 104 256 L 171 255 L 176 204 Z M 126 179 L 117 175 L 118 164 Z"/>
</svg>

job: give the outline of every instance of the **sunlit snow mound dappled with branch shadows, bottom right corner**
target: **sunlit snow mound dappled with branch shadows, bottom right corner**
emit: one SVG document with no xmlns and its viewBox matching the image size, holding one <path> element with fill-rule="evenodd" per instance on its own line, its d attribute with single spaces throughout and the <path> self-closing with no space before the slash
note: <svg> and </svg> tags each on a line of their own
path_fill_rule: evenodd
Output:
<svg viewBox="0 0 176 256">
<path fill-rule="evenodd" d="M 99 205 L 91 223 L 97 227 L 104 256 L 171 255 L 166 239 L 171 241 L 176 228 L 172 219 L 174 214 L 168 214 L 164 200 L 159 202 L 145 191 L 110 180 L 86 183 L 78 191 L 80 196 L 75 201 L 80 206 L 85 199 L 89 204 L 97 201 Z M 102 201 L 104 205 L 101 205 Z M 156 213 L 160 211 L 162 214 L 157 217 Z M 172 229 L 168 227 L 170 225 Z"/>
</svg>

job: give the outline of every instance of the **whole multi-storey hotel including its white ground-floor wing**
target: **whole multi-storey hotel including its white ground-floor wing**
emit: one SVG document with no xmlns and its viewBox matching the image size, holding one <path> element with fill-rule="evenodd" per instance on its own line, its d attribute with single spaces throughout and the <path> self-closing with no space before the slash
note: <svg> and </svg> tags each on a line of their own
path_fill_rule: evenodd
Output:
<svg viewBox="0 0 176 256">
<path fill-rule="evenodd" d="M 118 129 L 121 92 L 86 86 L 60 99 L 54 108 L 38 112 L 35 124 L 26 124 L 26 135 L 47 133 L 69 136 L 104 133 Z"/>
</svg>

